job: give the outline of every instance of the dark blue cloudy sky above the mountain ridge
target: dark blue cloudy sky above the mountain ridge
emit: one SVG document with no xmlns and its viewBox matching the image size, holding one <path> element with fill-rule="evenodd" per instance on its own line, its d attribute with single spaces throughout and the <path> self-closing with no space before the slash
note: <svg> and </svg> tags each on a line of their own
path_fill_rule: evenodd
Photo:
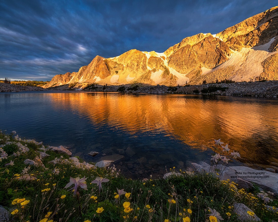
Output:
<svg viewBox="0 0 278 222">
<path fill-rule="evenodd" d="M 50 80 L 96 56 L 164 52 L 276 6 L 274 0 L 0 0 L 0 78 Z"/>
</svg>

